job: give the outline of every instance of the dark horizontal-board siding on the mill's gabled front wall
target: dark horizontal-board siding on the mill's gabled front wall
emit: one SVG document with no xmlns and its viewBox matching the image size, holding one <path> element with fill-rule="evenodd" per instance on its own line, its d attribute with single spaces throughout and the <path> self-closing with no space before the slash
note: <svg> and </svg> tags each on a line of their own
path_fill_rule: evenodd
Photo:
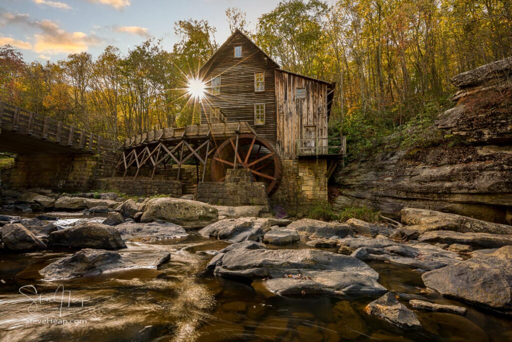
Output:
<svg viewBox="0 0 512 342">
<path fill-rule="evenodd" d="M 242 46 L 242 58 L 234 57 L 234 47 Z M 246 121 L 254 131 L 275 147 L 275 64 L 243 34 L 236 33 L 201 69 L 210 87 L 212 77 L 221 76 L 219 95 L 202 99 L 201 123 L 207 123 L 210 107 L 219 107 L 227 122 Z M 265 91 L 254 91 L 254 73 L 265 72 Z M 265 104 L 265 125 L 254 125 L 254 105 Z"/>
</svg>

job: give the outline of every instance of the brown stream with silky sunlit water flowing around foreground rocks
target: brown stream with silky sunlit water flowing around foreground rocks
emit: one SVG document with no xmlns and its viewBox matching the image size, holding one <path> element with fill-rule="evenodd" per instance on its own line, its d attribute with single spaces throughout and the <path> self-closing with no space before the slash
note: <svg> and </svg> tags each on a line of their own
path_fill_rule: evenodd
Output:
<svg viewBox="0 0 512 342">
<path fill-rule="evenodd" d="M 129 251 L 168 250 L 171 259 L 158 270 L 51 283 L 41 281 L 38 270 L 70 250 L 0 254 L 0 340 L 512 341 L 512 317 L 423 293 L 421 273 L 406 266 L 369 263 L 390 291 L 460 305 L 467 315 L 416 311 L 424 329 L 412 331 L 366 314 L 364 307 L 376 297 L 275 296 L 261 281 L 204 272 L 211 251 L 228 243 L 189 234 L 127 244 Z"/>
</svg>

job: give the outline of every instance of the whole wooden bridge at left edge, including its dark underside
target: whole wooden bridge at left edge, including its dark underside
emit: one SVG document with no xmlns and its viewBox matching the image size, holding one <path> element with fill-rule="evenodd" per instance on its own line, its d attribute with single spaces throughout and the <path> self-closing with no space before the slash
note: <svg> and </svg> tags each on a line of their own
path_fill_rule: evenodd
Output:
<svg viewBox="0 0 512 342">
<path fill-rule="evenodd" d="M 113 151 L 115 142 L 20 107 L 0 102 L 0 150 L 18 154 Z"/>
</svg>

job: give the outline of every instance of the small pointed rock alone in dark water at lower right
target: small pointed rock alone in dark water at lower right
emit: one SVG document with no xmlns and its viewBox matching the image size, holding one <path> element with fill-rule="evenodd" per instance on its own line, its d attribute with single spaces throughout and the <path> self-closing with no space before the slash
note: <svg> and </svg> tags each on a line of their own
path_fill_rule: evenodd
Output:
<svg viewBox="0 0 512 342">
<path fill-rule="evenodd" d="M 381 317 L 400 328 L 421 328 L 416 314 L 401 304 L 391 292 L 365 307 L 368 314 Z"/>
</svg>

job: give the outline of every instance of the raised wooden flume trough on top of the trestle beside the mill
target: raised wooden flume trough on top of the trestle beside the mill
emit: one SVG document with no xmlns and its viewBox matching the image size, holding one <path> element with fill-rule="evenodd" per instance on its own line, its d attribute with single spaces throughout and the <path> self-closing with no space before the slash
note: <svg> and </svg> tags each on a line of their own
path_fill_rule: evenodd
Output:
<svg viewBox="0 0 512 342">
<path fill-rule="evenodd" d="M 225 140 L 232 137 L 237 132 L 252 133 L 256 135 L 254 130 L 245 121 L 219 124 L 187 125 L 181 128 L 163 128 L 131 136 L 124 140 L 123 147 L 124 149 L 132 149 L 140 146 L 158 144 L 160 142 L 177 142 L 184 138 L 188 141 L 199 141 L 209 138 Z"/>
</svg>

